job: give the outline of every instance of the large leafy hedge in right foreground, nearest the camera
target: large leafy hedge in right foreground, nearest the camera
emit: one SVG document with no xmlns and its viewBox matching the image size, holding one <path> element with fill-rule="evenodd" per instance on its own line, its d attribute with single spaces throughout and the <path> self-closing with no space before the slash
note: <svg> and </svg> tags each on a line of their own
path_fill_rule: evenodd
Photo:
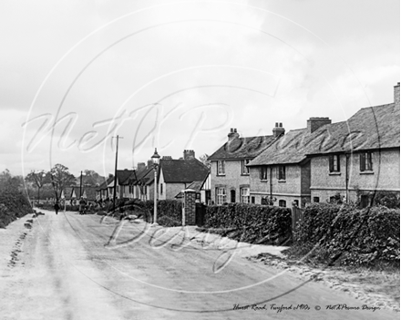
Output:
<svg viewBox="0 0 401 320">
<path fill-rule="evenodd" d="M 347 205 L 312 204 L 294 233 L 293 252 L 314 246 L 317 261 L 373 266 L 400 263 L 400 211 L 383 206 L 364 210 Z"/>
</svg>

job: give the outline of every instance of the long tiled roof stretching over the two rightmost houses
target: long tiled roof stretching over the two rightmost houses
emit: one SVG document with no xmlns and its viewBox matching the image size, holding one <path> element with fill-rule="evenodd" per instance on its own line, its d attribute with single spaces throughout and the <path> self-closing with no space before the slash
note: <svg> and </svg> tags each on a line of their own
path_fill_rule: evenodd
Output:
<svg viewBox="0 0 401 320">
<path fill-rule="evenodd" d="M 393 104 L 362 108 L 347 121 L 309 133 L 289 131 L 249 166 L 299 163 L 308 155 L 400 147 L 400 108 Z"/>
</svg>

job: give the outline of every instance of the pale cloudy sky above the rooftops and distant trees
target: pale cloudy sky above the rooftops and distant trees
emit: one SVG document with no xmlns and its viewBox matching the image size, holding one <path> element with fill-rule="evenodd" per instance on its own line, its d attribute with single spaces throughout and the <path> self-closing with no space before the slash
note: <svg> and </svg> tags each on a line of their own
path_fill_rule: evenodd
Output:
<svg viewBox="0 0 401 320">
<path fill-rule="evenodd" d="M 0 171 L 211 155 L 393 102 L 397 0 L 2 0 Z"/>
</svg>

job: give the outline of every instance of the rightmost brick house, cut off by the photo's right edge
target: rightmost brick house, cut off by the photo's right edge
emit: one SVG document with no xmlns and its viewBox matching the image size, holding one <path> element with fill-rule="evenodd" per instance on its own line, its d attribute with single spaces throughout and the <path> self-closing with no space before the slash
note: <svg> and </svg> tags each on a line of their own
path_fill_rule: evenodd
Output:
<svg viewBox="0 0 401 320">
<path fill-rule="evenodd" d="M 323 148 L 311 152 L 312 201 L 344 200 L 369 204 L 376 191 L 400 192 L 400 88 L 395 102 L 362 108 L 330 126 Z"/>
</svg>

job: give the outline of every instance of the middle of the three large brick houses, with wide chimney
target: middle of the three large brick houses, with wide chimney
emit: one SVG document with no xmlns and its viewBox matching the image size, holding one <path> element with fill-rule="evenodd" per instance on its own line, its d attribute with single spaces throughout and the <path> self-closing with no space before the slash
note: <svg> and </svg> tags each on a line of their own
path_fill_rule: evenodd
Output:
<svg viewBox="0 0 401 320">
<path fill-rule="evenodd" d="M 311 118 L 307 128 L 289 131 L 252 160 L 251 197 L 258 204 L 303 207 L 311 201 L 311 161 L 316 131 L 331 124 L 328 118 Z M 318 136 L 319 137 L 319 136 Z"/>
</svg>

